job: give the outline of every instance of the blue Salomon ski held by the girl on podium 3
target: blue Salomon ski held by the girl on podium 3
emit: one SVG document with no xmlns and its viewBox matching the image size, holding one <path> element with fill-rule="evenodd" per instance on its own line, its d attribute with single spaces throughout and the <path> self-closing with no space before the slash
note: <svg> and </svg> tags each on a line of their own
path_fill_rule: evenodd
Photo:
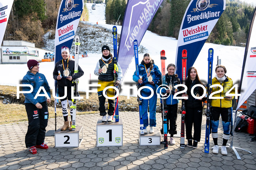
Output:
<svg viewBox="0 0 256 170">
<path fill-rule="evenodd" d="M 139 72 L 139 58 L 138 58 L 138 41 L 135 39 L 133 42 L 133 49 L 134 49 L 134 55 L 135 55 L 135 66 L 136 66 L 136 76 L 140 78 L 140 72 Z M 141 84 L 137 84 L 137 89 L 141 87 Z M 139 103 L 139 115 L 140 115 L 140 134 L 144 134 L 144 125 L 143 125 L 143 119 L 142 119 L 142 98 L 138 96 L 137 98 Z"/>
</svg>

